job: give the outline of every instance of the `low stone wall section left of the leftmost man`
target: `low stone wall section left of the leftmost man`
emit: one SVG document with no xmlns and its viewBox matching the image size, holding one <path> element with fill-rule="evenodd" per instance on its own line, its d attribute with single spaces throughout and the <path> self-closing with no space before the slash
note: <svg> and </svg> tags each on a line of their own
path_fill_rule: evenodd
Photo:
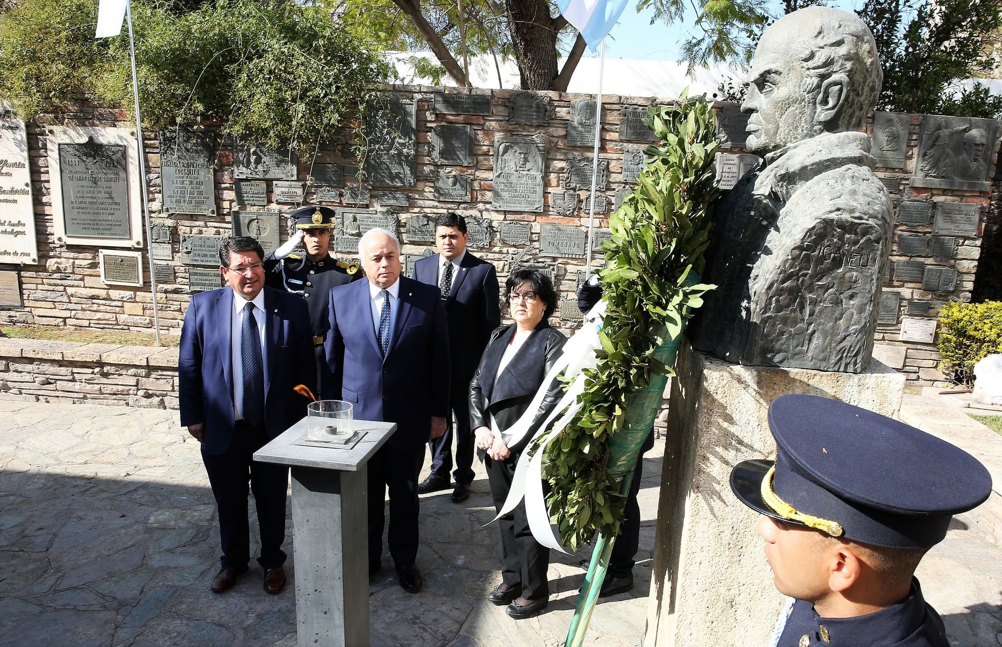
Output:
<svg viewBox="0 0 1002 647">
<path fill-rule="evenodd" d="M 177 409 L 177 349 L 0 339 L 0 398 Z"/>
</svg>

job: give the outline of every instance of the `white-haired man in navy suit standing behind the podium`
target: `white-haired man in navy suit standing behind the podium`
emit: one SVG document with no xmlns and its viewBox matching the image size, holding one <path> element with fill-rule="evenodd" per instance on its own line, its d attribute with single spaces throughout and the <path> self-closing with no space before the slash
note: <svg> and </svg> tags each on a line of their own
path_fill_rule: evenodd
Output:
<svg viewBox="0 0 1002 647">
<path fill-rule="evenodd" d="M 418 474 L 425 443 L 445 433 L 449 412 L 445 307 L 437 287 L 400 275 L 400 243 L 390 231 L 367 231 L 359 256 L 368 280 L 331 289 L 324 398 L 352 403 L 356 419 L 397 424 L 368 466 L 369 572 L 382 567 L 389 488 L 390 555 L 400 586 L 417 593 Z"/>
</svg>

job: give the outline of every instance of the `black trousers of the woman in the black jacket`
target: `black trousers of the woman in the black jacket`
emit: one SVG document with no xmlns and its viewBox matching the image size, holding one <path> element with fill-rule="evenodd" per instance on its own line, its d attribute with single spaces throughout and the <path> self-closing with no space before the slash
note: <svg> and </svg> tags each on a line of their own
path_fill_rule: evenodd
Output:
<svg viewBox="0 0 1002 647">
<path fill-rule="evenodd" d="M 491 484 L 494 510 L 501 511 L 511 482 L 515 476 L 518 455 L 512 454 L 504 461 L 494 461 L 484 457 L 487 480 Z M 546 571 L 550 566 L 550 549 L 540 545 L 529 530 L 529 519 L 525 513 L 525 502 L 498 520 L 501 530 L 501 581 L 505 586 L 522 585 L 522 597 L 526 600 L 543 600 L 550 597 Z"/>
</svg>

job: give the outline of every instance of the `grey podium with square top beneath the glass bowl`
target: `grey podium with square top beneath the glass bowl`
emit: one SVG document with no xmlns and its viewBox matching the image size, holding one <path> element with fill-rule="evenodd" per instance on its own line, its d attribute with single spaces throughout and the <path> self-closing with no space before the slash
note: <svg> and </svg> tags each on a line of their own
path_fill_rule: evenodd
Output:
<svg viewBox="0 0 1002 647">
<path fill-rule="evenodd" d="M 397 426 L 357 420 L 355 429 L 365 436 L 354 447 L 301 445 L 304 418 L 254 455 L 292 468 L 301 645 L 369 644 L 368 462 Z"/>
</svg>

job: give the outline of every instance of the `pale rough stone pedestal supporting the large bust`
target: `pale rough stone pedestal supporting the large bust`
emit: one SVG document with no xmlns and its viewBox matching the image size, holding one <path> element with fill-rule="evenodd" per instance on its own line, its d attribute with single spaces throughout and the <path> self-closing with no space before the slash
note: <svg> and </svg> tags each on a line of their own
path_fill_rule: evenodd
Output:
<svg viewBox="0 0 1002 647">
<path fill-rule="evenodd" d="M 861 374 L 742 367 L 687 342 L 675 370 L 644 645 L 767 645 L 783 597 L 758 516 L 730 492 L 731 468 L 776 457 L 767 416 L 779 396 L 824 396 L 897 418 L 905 378 L 877 361 Z"/>
</svg>

